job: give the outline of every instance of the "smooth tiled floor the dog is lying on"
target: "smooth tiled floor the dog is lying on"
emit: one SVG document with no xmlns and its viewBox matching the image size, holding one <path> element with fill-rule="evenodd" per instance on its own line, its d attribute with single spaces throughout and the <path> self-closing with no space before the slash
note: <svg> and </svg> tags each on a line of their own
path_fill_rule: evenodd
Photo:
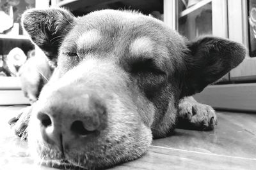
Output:
<svg viewBox="0 0 256 170">
<path fill-rule="evenodd" d="M 33 164 L 26 142 L 10 132 L 6 123 L 18 107 L 0 107 L 0 169 L 51 168 Z M 156 139 L 140 159 L 113 169 L 256 169 L 256 113 L 218 112 L 214 131 L 176 129 Z"/>
</svg>

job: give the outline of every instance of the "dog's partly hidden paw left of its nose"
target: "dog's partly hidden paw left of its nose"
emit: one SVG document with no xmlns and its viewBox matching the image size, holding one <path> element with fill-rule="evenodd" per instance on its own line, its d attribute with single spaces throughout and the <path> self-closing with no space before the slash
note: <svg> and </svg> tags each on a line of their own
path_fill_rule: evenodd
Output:
<svg viewBox="0 0 256 170">
<path fill-rule="evenodd" d="M 16 117 L 13 117 L 8 121 L 8 124 L 10 124 L 15 135 L 22 139 L 26 139 L 28 136 L 26 129 L 28 127 L 30 113 L 31 106 L 28 106 L 27 108 L 20 110 L 20 113 Z"/>
</svg>

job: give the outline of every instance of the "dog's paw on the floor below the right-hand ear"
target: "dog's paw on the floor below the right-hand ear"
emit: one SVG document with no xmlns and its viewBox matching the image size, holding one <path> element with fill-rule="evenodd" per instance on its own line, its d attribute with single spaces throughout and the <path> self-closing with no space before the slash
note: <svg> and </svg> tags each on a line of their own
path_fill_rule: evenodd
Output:
<svg viewBox="0 0 256 170">
<path fill-rule="evenodd" d="M 179 103 L 178 127 L 209 131 L 217 125 L 216 113 L 211 106 L 198 103 L 193 97 L 184 97 Z"/>
</svg>

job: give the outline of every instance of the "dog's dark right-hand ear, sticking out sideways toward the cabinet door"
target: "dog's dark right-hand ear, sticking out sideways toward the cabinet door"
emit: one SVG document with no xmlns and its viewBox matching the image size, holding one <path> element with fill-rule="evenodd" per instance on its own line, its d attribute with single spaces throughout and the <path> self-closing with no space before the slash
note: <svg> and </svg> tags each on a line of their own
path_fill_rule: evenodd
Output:
<svg viewBox="0 0 256 170">
<path fill-rule="evenodd" d="M 201 92 L 238 66 L 246 55 L 243 45 L 214 37 L 189 42 L 188 49 L 188 55 L 184 58 L 186 75 L 181 97 Z"/>
</svg>

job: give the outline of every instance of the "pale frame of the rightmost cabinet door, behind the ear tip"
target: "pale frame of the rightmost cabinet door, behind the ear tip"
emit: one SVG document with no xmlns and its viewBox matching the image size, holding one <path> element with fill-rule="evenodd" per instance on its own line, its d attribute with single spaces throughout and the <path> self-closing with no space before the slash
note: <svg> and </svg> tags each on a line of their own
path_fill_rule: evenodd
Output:
<svg viewBox="0 0 256 170">
<path fill-rule="evenodd" d="M 228 0 L 228 38 L 249 48 L 247 10 L 247 1 Z M 256 57 L 250 57 L 247 53 L 244 61 L 230 72 L 230 80 L 255 81 Z"/>
</svg>

